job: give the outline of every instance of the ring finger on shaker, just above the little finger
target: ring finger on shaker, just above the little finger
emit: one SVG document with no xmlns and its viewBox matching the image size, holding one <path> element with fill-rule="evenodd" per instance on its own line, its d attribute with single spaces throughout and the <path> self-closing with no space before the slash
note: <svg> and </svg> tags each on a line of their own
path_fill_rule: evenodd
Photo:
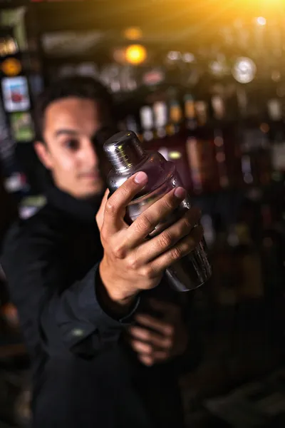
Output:
<svg viewBox="0 0 285 428">
<path fill-rule="evenodd" d="M 174 247 L 182 238 L 190 234 L 191 230 L 199 222 L 199 218 L 200 211 L 197 208 L 191 208 L 180 220 L 164 230 L 160 235 L 142 243 L 136 252 L 138 265 L 148 263 Z"/>
</svg>

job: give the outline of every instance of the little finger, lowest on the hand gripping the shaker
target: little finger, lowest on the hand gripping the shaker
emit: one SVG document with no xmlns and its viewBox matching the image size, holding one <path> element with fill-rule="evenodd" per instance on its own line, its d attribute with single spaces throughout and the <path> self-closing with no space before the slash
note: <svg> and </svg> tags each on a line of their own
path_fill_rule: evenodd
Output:
<svg viewBox="0 0 285 428">
<path fill-rule="evenodd" d="M 177 262 L 177 260 L 180 260 L 185 257 L 185 255 L 195 250 L 199 242 L 202 240 L 202 237 L 203 228 L 202 226 L 197 226 L 189 235 L 180 240 L 177 245 L 170 248 L 170 250 L 167 250 L 150 263 L 150 269 L 156 274 L 164 272 L 167 267 L 170 267 L 173 263 Z"/>
</svg>

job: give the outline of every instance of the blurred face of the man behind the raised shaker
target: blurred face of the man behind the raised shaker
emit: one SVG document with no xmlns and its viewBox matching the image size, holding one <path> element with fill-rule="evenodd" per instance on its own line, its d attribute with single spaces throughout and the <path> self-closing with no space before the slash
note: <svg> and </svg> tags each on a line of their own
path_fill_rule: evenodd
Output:
<svg viewBox="0 0 285 428">
<path fill-rule="evenodd" d="M 46 108 L 44 143 L 36 143 L 36 152 L 56 186 L 76 198 L 99 195 L 105 188 L 104 141 L 98 136 L 109 124 L 106 110 L 99 102 L 76 97 L 53 101 Z"/>
</svg>

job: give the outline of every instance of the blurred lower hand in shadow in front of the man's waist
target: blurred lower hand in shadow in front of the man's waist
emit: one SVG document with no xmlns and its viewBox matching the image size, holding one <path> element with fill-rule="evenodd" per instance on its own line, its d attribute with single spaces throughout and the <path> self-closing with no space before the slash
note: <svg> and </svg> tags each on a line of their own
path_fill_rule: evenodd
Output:
<svg viewBox="0 0 285 428">
<path fill-rule="evenodd" d="M 182 355 L 188 344 L 180 307 L 155 299 L 150 300 L 150 305 L 161 312 L 162 317 L 138 314 L 135 320 L 139 325 L 129 329 L 130 346 L 138 352 L 140 362 L 147 366 Z"/>
</svg>

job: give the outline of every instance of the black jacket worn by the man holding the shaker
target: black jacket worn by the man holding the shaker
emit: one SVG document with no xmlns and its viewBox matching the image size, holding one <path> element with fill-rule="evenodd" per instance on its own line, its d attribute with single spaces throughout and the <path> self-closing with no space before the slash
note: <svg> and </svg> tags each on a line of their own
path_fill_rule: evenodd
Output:
<svg viewBox="0 0 285 428">
<path fill-rule="evenodd" d="M 1 263 L 33 367 L 33 427 L 179 428 L 177 376 L 197 360 L 196 343 L 190 339 L 185 358 L 151 368 L 128 349 L 122 332 L 133 313 L 115 320 L 96 296 L 103 255 L 96 210 L 53 188 L 6 239 Z M 147 294 L 186 301 L 160 284 L 134 310 Z"/>
</svg>

